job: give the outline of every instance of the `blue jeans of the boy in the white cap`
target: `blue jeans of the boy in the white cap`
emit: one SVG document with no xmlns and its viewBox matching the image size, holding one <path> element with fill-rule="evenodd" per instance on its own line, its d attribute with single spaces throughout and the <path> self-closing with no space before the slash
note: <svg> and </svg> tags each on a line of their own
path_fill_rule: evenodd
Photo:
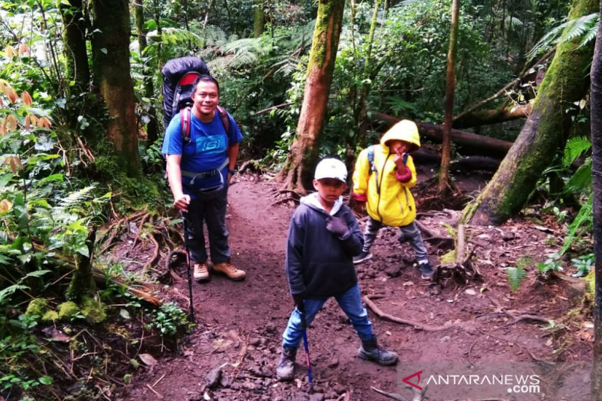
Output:
<svg viewBox="0 0 602 401">
<path fill-rule="evenodd" d="M 372 323 L 368 320 L 368 312 L 362 305 L 362 297 L 359 292 L 359 285 L 351 287 L 341 295 L 335 296 L 339 306 L 347 314 L 353 328 L 358 333 L 362 341 L 368 341 L 372 338 Z M 305 322 L 309 326 L 314 321 L 318 310 L 324 305 L 327 299 L 303 299 L 305 308 Z M 301 321 L 301 313 L 294 308 L 291 317 L 288 319 L 287 328 L 282 333 L 282 346 L 296 349 L 299 347 L 305 327 Z"/>
</svg>

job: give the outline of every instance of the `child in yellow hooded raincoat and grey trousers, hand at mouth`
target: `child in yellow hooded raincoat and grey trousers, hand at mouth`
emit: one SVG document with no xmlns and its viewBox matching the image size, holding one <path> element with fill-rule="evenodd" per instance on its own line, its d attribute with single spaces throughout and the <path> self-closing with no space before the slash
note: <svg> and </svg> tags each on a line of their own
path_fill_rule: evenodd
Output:
<svg viewBox="0 0 602 401">
<path fill-rule="evenodd" d="M 380 139 L 359 153 L 353 173 L 353 200 L 365 204 L 368 223 L 364 231 L 364 248 L 353 259 L 360 263 L 372 257 L 370 247 L 382 225 L 399 227 L 400 242 L 409 240 L 424 280 L 430 280 L 433 269 L 427 257 L 420 230 L 415 224 L 416 206 L 409 191 L 416 185 L 416 169 L 409 156 L 420 148 L 418 127 L 402 120 Z"/>
</svg>

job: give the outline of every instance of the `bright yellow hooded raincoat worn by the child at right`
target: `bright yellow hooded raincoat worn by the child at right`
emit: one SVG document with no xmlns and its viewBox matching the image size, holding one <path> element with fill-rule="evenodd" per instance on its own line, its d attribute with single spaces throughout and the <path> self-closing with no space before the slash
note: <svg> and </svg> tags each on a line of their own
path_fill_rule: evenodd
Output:
<svg viewBox="0 0 602 401">
<path fill-rule="evenodd" d="M 399 121 L 382 136 L 380 144 L 365 148 L 359 153 L 353 172 L 353 197 L 365 195 L 366 209 L 371 218 L 392 227 L 400 227 L 411 224 L 416 218 L 414 197 L 409 191 L 409 188 L 416 185 L 416 168 L 411 156 L 408 157 L 406 167 L 412 172 L 412 178 L 406 183 L 397 180 L 397 167 L 393 162 L 395 154 L 389 151 L 386 144 L 391 139 L 401 139 L 413 144 L 409 152 L 420 148 L 416 124 L 409 120 Z M 370 148 L 374 152 L 374 172 L 370 171 L 368 161 Z"/>
</svg>

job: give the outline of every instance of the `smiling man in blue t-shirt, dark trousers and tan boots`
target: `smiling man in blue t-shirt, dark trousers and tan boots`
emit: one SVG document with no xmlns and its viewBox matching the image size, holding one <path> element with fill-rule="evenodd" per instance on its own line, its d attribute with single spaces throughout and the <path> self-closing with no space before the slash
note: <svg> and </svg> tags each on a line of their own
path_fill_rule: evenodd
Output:
<svg viewBox="0 0 602 401">
<path fill-rule="evenodd" d="M 173 194 L 173 206 L 186 220 L 194 278 L 209 280 L 209 265 L 203 235 L 203 221 L 209 234 L 213 270 L 231 280 L 243 280 L 246 273 L 230 262 L 231 250 L 226 227 L 228 183 L 234 174 L 238 145 L 243 135 L 228 114 L 229 129 L 217 114 L 219 84 L 202 75 L 193 84 L 190 136 L 182 132 L 180 113 L 167 127 L 161 152 L 167 159 L 167 178 Z"/>
</svg>

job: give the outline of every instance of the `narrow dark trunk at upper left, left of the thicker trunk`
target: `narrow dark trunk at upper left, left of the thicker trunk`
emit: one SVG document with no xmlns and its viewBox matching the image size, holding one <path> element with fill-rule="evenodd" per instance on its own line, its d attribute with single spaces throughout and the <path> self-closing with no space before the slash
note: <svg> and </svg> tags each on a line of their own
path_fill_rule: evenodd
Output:
<svg viewBox="0 0 602 401">
<path fill-rule="evenodd" d="M 81 103 L 80 94 L 90 90 L 90 67 L 85 46 L 86 22 L 81 0 L 69 0 L 60 4 L 63 19 L 63 54 L 65 58 L 65 79 L 74 82 L 67 85 L 67 118 L 70 126 L 77 124 Z"/>
</svg>

